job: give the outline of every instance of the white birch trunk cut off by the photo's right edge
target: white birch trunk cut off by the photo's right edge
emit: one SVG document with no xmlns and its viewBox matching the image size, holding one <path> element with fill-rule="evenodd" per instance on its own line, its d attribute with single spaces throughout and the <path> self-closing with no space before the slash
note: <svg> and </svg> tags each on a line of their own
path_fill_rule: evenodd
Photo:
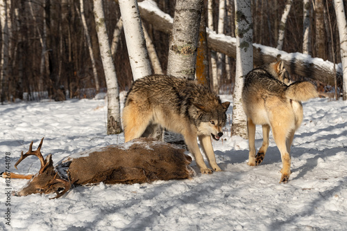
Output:
<svg viewBox="0 0 347 231">
<path fill-rule="evenodd" d="M 347 23 L 343 0 L 334 0 L 337 26 L 339 27 L 340 53 L 343 72 L 342 98 L 347 100 Z"/>
</svg>

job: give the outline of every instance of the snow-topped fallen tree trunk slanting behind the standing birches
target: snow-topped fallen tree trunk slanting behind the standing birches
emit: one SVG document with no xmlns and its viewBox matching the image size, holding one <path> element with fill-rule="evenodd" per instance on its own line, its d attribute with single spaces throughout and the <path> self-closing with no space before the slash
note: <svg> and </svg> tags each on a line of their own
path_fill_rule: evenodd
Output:
<svg viewBox="0 0 347 231">
<path fill-rule="evenodd" d="M 139 4 L 139 10 L 142 18 L 151 22 L 156 30 L 164 33 L 171 33 L 173 19 L 162 12 L 159 8 L 153 8 L 145 4 Z M 217 35 L 214 31 L 207 28 L 208 48 L 224 53 L 229 57 L 236 58 L 236 39 L 226 35 Z M 260 66 L 273 62 L 275 59 L 282 59 L 285 62 L 287 71 L 291 75 L 300 75 L 318 80 L 326 84 L 334 85 L 335 77 L 341 80 L 342 73 L 337 71 L 336 75 L 333 66 L 329 61 L 325 61 L 322 65 L 321 61 L 315 62 L 310 55 L 301 55 L 301 53 L 286 53 L 270 46 L 253 44 L 253 63 Z"/>
</svg>

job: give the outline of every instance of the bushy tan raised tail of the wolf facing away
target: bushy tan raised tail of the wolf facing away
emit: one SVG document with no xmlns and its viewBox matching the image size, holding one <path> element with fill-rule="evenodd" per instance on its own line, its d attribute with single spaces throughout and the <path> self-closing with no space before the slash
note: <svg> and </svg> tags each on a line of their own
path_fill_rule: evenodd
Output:
<svg viewBox="0 0 347 231">
<path fill-rule="evenodd" d="M 296 101 L 306 101 L 318 97 L 316 86 L 310 82 L 294 82 L 285 91 L 287 98 Z"/>
</svg>

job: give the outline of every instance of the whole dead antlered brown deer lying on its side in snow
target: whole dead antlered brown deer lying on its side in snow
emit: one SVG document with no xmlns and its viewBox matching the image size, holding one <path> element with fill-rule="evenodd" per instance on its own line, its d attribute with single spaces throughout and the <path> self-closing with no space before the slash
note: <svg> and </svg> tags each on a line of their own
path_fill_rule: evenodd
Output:
<svg viewBox="0 0 347 231">
<path fill-rule="evenodd" d="M 49 194 L 56 192 L 58 198 L 65 194 L 71 185 L 115 184 L 115 183 L 150 183 L 151 181 L 167 181 L 172 179 L 191 178 L 194 169 L 189 166 L 192 158 L 184 154 L 184 149 L 160 142 L 152 138 L 139 138 L 123 145 L 110 145 L 98 150 L 90 150 L 81 154 L 68 156 L 53 167 L 52 155 L 43 158 L 41 147 L 43 139 L 36 151 L 33 142 L 26 154 L 15 164 L 27 156 L 37 156 L 41 162 L 40 171 L 35 175 L 12 174 L 12 178 L 30 178 L 17 196 L 34 193 Z M 3 177 L 4 174 L 3 174 Z"/>
</svg>

